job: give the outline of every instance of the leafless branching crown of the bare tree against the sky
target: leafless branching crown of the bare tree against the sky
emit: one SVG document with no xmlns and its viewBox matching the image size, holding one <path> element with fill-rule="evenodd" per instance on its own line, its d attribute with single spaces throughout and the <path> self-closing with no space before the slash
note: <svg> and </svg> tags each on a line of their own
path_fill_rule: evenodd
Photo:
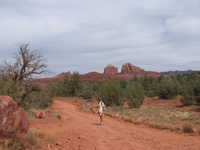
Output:
<svg viewBox="0 0 200 150">
<path fill-rule="evenodd" d="M 14 56 L 14 62 L 5 62 L 1 73 L 14 81 L 25 81 L 34 75 L 46 72 L 44 57 L 37 50 L 29 49 L 29 44 L 23 44 Z"/>
</svg>

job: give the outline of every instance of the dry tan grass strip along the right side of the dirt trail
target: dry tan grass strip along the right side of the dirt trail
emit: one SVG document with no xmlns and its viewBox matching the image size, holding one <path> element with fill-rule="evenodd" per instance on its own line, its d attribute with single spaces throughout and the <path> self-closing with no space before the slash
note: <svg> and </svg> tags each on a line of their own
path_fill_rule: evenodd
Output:
<svg viewBox="0 0 200 150">
<path fill-rule="evenodd" d="M 83 111 L 91 112 L 96 108 L 96 104 L 91 101 L 77 101 L 76 103 Z M 167 107 L 167 105 L 143 105 L 140 109 L 109 107 L 105 114 L 126 122 L 143 124 L 152 128 L 167 129 L 179 133 L 198 132 L 200 134 L 200 112 L 189 111 L 180 107 Z"/>
</svg>

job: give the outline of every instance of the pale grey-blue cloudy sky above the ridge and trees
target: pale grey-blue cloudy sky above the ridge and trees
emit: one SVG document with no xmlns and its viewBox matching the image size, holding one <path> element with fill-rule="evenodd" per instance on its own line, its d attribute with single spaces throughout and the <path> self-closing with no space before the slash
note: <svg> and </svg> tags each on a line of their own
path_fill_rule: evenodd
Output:
<svg viewBox="0 0 200 150">
<path fill-rule="evenodd" d="M 0 0 L 0 61 L 30 42 L 53 74 L 200 70 L 200 0 Z"/>
</svg>

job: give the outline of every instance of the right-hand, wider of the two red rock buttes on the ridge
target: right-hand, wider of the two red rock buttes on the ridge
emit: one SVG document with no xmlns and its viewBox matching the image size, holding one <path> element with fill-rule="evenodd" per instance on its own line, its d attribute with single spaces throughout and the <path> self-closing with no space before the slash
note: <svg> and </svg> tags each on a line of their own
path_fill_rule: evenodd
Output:
<svg viewBox="0 0 200 150">
<path fill-rule="evenodd" d="M 137 67 L 137 66 L 134 66 L 130 63 L 126 63 L 122 66 L 122 69 L 121 69 L 121 73 L 122 74 L 127 74 L 127 73 L 141 73 L 141 72 L 144 72 L 143 69 Z"/>
</svg>

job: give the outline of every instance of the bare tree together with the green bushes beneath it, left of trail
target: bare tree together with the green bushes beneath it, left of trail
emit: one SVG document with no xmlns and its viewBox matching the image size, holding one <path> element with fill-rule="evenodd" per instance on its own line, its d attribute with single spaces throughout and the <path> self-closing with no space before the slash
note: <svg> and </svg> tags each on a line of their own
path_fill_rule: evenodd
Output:
<svg viewBox="0 0 200 150">
<path fill-rule="evenodd" d="M 1 64 L 0 95 L 11 96 L 25 109 L 49 106 L 54 96 L 52 86 L 32 82 L 34 77 L 47 72 L 46 68 L 43 55 L 31 50 L 29 44 L 22 44 L 12 61 Z"/>
</svg>

